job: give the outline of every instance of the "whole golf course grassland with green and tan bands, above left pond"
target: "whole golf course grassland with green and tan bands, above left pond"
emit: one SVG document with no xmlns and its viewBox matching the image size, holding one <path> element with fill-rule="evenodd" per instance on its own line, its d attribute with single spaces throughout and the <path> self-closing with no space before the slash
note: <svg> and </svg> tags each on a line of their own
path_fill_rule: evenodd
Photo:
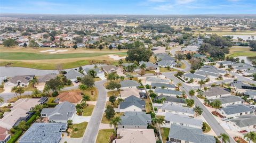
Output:
<svg viewBox="0 0 256 143">
<path fill-rule="evenodd" d="M 109 49 L 73 49 L 57 54 L 40 53 L 51 48 L 1 47 L 0 66 L 16 66 L 42 70 L 55 70 L 57 64 L 63 69 L 77 68 L 88 64 L 118 64 L 118 60 L 109 58 L 109 54 L 126 56 L 126 50 Z M 124 61 L 125 62 L 125 61 Z"/>
</svg>

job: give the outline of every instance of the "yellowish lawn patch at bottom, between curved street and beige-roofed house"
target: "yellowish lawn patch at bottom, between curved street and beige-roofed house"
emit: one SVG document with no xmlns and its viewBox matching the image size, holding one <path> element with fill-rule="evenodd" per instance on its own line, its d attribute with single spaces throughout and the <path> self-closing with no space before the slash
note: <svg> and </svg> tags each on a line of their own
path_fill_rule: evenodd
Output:
<svg viewBox="0 0 256 143">
<path fill-rule="evenodd" d="M 99 130 L 96 143 L 109 143 L 109 137 L 114 133 L 114 129 Z"/>
</svg>

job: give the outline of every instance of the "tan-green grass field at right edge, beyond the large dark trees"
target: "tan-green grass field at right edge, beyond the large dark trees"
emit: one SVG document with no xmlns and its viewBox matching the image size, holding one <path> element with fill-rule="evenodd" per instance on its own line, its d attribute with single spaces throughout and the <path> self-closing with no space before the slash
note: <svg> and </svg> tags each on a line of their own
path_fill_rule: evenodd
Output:
<svg viewBox="0 0 256 143">
<path fill-rule="evenodd" d="M 229 54 L 226 56 L 229 57 L 237 57 L 237 56 L 247 56 L 252 57 L 256 56 L 256 52 L 250 51 L 250 47 L 242 47 L 242 46 L 233 46 L 230 48 Z"/>
</svg>

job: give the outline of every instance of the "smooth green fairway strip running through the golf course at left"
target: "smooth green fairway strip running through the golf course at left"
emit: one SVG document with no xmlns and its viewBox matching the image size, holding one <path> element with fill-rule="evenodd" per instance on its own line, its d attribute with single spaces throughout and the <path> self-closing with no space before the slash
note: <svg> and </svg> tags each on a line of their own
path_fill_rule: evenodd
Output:
<svg viewBox="0 0 256 143">
<path fill-rule="evenodd" d="M 0 58 L 5 60 L 46 60 L 77 57 L 93 57 L 108 55 L 110 53 L 70 53 L 70 54 L 37 54 L 25 52 L 1 52 Z M 126 55 L 126 52 L 111 53 L 115 55 Z"/>
</svg>

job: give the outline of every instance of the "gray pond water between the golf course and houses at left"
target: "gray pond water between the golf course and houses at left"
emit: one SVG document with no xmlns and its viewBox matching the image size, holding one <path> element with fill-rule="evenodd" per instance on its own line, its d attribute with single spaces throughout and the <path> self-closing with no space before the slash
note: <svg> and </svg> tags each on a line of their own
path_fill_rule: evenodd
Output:
<svg viewBox="0 0 256 143">
<path fill-rule="evenodd" d="M 102 64 L 97 64 L 98 67 L 103 66 Z M 84 65 L 82 66 L 83 69 L 85 68 L 93 68 L 93 65 Z M 78 69 L 78 68 L 73 68 L 73 69 Z M 70 69 L 65 69 L 66 71 Z M 41 76 L 49 73 L 57 73 L 59 74 L 58 70 L 38 70 L 38 69 L 30 69 L 30 68 L 20 68 L 20 67 L 5 67 L 5 66 L 0 66 L 0 76 L 6 76 L 6 77 L 14 77 L 16 75 L 29 75 L 33 74 L 36 76 Z"/>
</svg>

